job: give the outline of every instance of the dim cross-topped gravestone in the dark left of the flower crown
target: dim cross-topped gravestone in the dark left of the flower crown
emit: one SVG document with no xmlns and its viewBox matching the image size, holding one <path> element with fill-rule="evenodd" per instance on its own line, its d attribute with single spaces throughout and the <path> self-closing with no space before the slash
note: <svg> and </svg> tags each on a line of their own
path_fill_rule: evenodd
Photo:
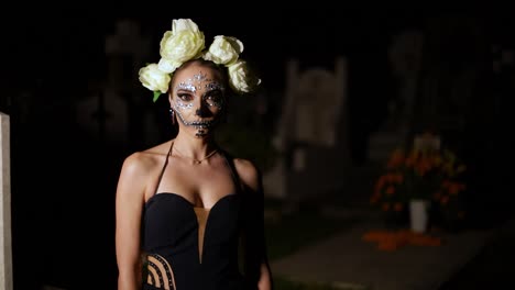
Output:
<svg viewBox="0 0 515 290">
<path fill-rule="evenodd" d="M 77 110 L 79 124 L 102 141 L 124 144 L 131 140 L 130 110 L 140 107 L 138 70 L 149 49 L 150 40 L 141 35 L 134 21 L 119 21 L 116 33 L 106 37 L 107 80 L 91 88 L 92 93 Z"/>
</svg>

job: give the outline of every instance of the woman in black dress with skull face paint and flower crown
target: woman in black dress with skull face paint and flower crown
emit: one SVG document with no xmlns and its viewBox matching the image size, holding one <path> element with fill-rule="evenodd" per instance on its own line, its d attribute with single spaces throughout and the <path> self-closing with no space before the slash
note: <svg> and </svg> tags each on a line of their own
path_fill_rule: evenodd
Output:
<svg viewBox="0 0 515 290">
<path fill-rule="evenodd" d="M 215 140 L 231 92 L 260 83 L 243 44 L 174 20 L 161 60 L 140 70 L 155 98 L 167 93 L 175 138 L 123 163 L 117 188 L 118 289 L 272 289 L 260 171 Z"/>
</svg>

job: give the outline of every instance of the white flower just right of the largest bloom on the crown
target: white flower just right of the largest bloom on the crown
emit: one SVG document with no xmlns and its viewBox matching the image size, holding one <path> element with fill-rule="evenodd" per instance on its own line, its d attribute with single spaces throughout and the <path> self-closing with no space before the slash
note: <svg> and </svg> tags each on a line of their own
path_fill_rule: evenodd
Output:
<svg viewBox="0 0 515 290">
<path fill-rule="evenodd" d="M 243 52 L 243 43 L 235 37 L 217 35 L 215 41 L 209 46 L 209 51 L 204 56 L 204 59 L 211 60 L 215 64 L 230 65 L 238 60 L 239 55 Z"/>
</svg>

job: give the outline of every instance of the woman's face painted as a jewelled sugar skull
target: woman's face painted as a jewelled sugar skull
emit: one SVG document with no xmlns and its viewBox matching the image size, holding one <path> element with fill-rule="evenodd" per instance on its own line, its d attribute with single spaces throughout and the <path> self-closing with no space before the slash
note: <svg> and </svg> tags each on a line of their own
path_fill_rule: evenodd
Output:
<svg viewBox="0 0 515 290">
<path fill-rule="evenodd" d="M 193 74 L 188 74 L 190 70 Z M 194 127 L 197 136 L 205 136 L 219 122 L 226 88 L 212 69 L 193 66 L 180 72 L 173 88 L 172 109 L 180 123 Z"/>
</svg>

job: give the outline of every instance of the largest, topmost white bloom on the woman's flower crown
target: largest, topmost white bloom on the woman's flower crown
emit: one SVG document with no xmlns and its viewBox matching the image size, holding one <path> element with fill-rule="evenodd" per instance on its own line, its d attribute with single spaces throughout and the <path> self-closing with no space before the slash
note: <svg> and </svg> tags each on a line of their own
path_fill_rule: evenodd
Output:
<svg viewBox="0 0 515 290">
<path fill-rule="evenodd" d="M 199 57 L 206 47 L 204 33 L 189 19 L 174 20 L 172 31 L 164 33 L 160 46 L 161 57 L 174 64 Z"/>
</svg>

